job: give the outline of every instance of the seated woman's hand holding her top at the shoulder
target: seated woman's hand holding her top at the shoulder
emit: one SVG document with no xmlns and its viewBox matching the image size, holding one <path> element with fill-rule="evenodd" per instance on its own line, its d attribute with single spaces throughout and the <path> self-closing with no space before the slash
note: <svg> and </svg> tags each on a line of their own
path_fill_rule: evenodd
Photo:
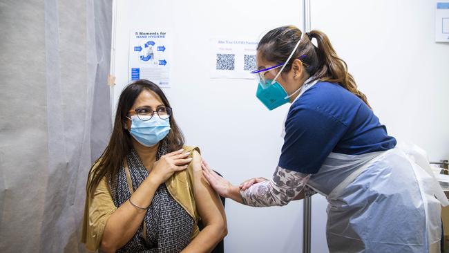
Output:
<svg viewBox="0 0 449 253">
<path fill-rule="evenodd" d="M 159 185 L 169 179 L 176 171 L 187 169 L 192 158 L 187 158 L 190 152 L 182 153 L 184 149 L 167 153 L 157 160 L 149 176 Z"/>
</svg>

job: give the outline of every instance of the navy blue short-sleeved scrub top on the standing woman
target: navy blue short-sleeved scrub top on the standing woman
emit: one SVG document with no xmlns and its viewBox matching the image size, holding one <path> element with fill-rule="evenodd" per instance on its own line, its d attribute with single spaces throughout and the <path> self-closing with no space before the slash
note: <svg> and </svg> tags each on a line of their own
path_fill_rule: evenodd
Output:
<svg viewBox="0 0 449 253">
<path fill-rule="evenodd" d="M 361 155 L 396 144 L 363 100 L 338 84 L 318 82 L 289 109 L 278 166 L 316 174 L 330 152 Z"/>
</svg>

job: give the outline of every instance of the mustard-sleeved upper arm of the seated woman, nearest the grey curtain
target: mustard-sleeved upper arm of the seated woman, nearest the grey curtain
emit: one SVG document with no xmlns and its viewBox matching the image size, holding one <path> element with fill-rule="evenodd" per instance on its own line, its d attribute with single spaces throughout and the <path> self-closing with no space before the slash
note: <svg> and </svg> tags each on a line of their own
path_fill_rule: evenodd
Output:
<svg viewBox="0 0 449 253">
<path fill-rule="evenodd" d="M 86 198 L 90 198 L 87 196 Z M 102 241 L 106 221 L 117 209 L 113 203 L 111 193 L 108 189 L 106 178 L 100 180 L 92 198 L 86 200 L 86 211 L 88 214 L 86 224 L 86 247 L 96 250 Z"/>
</svg>

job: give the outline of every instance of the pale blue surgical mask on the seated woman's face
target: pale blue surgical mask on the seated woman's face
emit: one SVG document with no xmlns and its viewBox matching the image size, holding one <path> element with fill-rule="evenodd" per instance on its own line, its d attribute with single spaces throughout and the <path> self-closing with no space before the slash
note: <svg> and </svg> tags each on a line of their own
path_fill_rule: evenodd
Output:
<svg viewBox="0 0 449 253">
<path fill-rule="evenodd" d="M 150 118 L 150 116 L 145 116 Z M 142 118 L 142 116 L 141 116 Z M 137 142 L 145 147 L 153 147 L 164 139 L 170 131 L 170 118 L 162 120 L 156 114 L 149 120 L 140 120 L 137 115 L 131 116 L 131 130 L 129 133 Z"/>
</svg>

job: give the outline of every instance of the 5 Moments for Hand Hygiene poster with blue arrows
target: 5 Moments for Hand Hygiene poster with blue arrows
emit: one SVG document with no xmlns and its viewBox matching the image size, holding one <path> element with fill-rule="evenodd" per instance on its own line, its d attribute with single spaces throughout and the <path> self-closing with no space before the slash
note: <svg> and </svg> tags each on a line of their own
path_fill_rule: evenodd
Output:
<svg viewBox="0 0 449 253">
<path fill-rule="evenodd" d="M 169 88 L 170 55 L 171 46 L 166 31 L 132 31 L 129 40 L 129 79 L 149 79 L 162 88 Z"/>
</svg>

